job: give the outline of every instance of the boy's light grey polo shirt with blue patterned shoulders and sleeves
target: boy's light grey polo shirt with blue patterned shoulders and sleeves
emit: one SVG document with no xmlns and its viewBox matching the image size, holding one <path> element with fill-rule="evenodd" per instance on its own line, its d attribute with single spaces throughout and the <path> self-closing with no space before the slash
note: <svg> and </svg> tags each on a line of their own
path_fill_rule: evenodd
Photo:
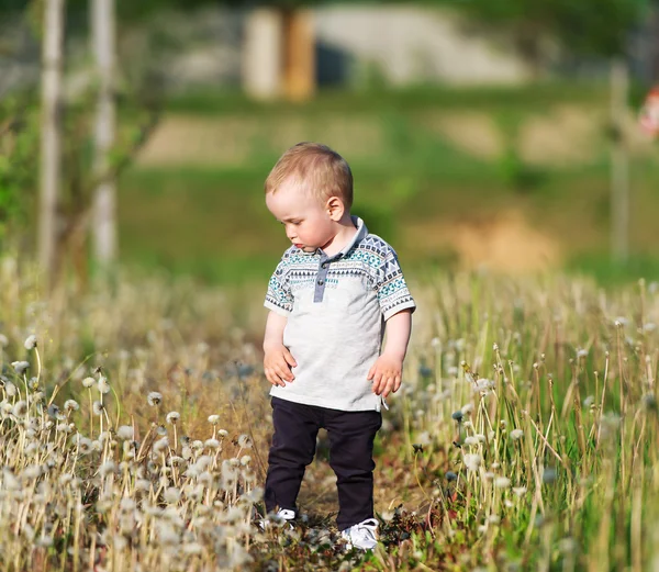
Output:
<svg viewBox="0 0 659 572">
<path fill-rule="evenodd" d="M 380 410 L 366 378 L 380 355 L 384 322 L 416 307 L 395 251 L 356 216 L 340 253 L 292 246 L 268 284 L 265 306 L 288 318 L 283 345 L 298 366 L 282 400 L 342 411 Z"/>
</svg>

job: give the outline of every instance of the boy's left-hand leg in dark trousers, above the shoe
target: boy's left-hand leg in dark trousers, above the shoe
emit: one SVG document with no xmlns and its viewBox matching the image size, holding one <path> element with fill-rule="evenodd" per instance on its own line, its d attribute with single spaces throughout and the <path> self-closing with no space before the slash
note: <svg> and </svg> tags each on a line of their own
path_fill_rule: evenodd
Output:
<svg viewBox="0 0 659 572">
<path fill-rule="evenodd" d="M 297 511 L 304 469 L 315 455 L 321 416 L 317 407 L 272 397 L 272 446 L 266 476 L 266 511 Z"/>
</svg>

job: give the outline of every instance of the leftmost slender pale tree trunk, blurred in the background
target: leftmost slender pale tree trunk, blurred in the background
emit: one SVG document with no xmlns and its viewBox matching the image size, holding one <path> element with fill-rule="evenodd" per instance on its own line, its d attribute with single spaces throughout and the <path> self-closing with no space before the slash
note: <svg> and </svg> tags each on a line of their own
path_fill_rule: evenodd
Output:
<svg viewBox="0 0 659 572">
<path fill-rule="evenodd" d="M 53 287 L 57 270 L 64 1 L 45 0 L 44 3 L 38 255 L 48 288 Z"/>
</svg>

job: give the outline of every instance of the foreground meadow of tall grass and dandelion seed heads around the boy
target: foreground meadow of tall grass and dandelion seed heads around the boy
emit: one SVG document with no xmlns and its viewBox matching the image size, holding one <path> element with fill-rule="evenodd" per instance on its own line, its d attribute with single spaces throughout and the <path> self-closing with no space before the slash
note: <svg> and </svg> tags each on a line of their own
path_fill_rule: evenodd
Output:
<svg viewBox="0 0 659 572">
<path fill-rule="evenodd" d="M 346 551 L 321 439 L 290 530 L 255 524 L 263 288 L 123 272 L 48 299 L 0 262 L 8 571 L 659 565 L 659 287 L 427 272 L 376 447 L 381 542 Z M 338 357 L 339 358 L 339 357 Z"/>
</svg>

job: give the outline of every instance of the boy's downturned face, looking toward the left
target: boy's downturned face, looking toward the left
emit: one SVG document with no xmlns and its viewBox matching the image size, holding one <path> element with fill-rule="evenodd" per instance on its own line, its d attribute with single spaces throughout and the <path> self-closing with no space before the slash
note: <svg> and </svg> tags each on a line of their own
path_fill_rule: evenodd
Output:
<svg viewBox="0 0 659 572">
<path fill-rule="evenodd" d="M 306 253 L 323 248 L 336 235 L 335 222 L 340 216 L 294 181 L 284 181 L 277 192 L 266 194 L 266 205 L 284 225 L 289 240 Z"/>
</svg>

